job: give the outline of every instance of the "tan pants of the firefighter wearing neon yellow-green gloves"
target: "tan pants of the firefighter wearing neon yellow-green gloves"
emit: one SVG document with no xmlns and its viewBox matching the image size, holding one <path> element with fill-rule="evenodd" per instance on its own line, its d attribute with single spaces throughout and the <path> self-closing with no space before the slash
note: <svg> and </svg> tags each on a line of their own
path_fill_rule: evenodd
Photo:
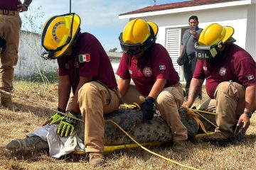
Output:
<svg viewBox="0 0 256 170">
<path fill-rule="evenodd" d="M 116 89 L 92 81 L 78 91 L 78 104 L 85 122 L 85 152 L 104 152 L 104 114 L 119 107 L 121 94 Z"/>
</svg>

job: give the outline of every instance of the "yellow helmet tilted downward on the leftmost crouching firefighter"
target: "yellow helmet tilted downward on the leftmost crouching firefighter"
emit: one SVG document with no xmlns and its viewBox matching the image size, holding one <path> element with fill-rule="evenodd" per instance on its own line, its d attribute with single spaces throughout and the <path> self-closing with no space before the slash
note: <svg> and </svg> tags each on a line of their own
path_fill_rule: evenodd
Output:
<svg viewBox="0 0 256 170">
<path fill-rule="evenodd" d="M 52 16 L 42 30 L 41 44 L 50 52 L 48 57 L 56 59 L 64 54 L 80 32 L 80 17 L 75 13 Z"/>
</svg>

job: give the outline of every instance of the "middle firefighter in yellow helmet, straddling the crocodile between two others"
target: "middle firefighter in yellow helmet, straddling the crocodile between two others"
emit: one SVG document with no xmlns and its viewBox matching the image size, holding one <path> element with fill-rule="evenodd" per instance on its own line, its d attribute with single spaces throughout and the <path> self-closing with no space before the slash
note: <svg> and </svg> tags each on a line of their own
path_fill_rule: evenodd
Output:
<svg viewBox="0 0 256 170">
<path fill-rule="evenodd" d="M 157 33 L 156 23 L 140 18 L 124 27 L 119 36 L 124 53 L 117 69 L 118 89 L 124 103 L 140 103 L 144 121 L 153 117 L 155 105 L 171 127 L 173 150 L 183 152 L 188 138 L 178 115 L 183 89 L 169 53 L 155 42 Z"/>
</svg>

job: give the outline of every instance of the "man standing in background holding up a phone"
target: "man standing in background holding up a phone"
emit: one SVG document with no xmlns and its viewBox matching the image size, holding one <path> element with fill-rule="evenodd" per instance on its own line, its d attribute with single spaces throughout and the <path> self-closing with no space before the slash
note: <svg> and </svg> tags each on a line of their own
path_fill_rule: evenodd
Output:
<svg viewBox="0 0 256 170">
<path fill-rule="evenodd" d="M 195 55 L 195 43 L 198 42 L 198 38 L 202 32 L 202 28 L 198 28 L 198 17 L 191 16 L 188 18 L 189 29 L 185 30 L 181 40 L 181 53 L 186 50 L 188 56 L 188 62 L 183 64 L 184 77 L 186 79 L 186 99 L 188 99 L 188 89 L 193 77 L 193 72 L 196 68 L 196 55 Z M 185 45 L 186 44 L 186 45 Z M 183 47 L 186 46 L 186 49 Z M 199 92 L 198 98 L 202 99 L 202 91 Z"/>
</svg>

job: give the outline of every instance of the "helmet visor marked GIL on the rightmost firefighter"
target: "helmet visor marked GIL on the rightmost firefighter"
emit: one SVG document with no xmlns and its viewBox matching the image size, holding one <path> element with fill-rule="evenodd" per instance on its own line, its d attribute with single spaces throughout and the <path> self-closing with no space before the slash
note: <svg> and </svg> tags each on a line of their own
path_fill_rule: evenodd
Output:
<svg viewBox="0 0 256 170">
<path fill-rule="evenodd" d="M 212 60 L 220 52 L 218 45 L 199 45 L 195 43 L 196 58 L 198 60 Z"/>
</svg>

